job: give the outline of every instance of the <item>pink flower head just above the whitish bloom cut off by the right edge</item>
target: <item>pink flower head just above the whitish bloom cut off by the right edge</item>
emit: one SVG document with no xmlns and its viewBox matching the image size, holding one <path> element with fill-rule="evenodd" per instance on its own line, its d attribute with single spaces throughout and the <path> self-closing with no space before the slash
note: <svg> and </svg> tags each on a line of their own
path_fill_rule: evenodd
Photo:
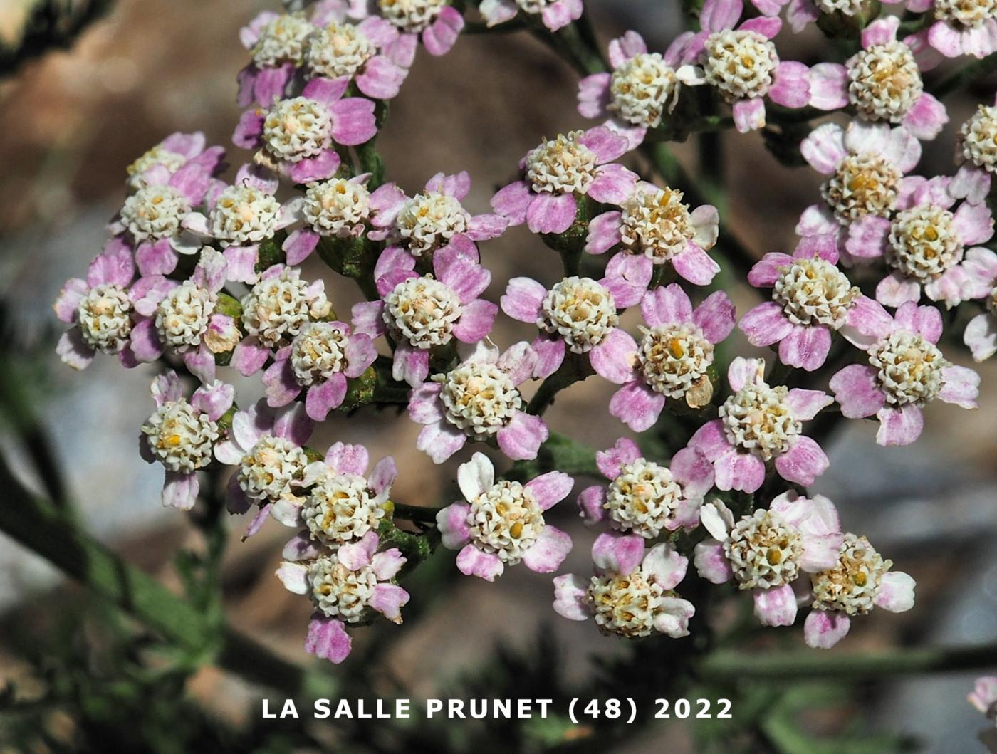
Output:
<svg viewBox="0 0 997 754">
<path fill-rule="evenodd" d="M 953 212 L 956 199 L 948 184 L 943 177 L 926 181 L 898 202 L 892 220 L 866 216 L 848 228 L 845 245 L 853 257 L 884 256 L 893 268 L 876 286 L 880 303 L 916 303 L 922 286 L 928 298 L 944 301 L 948 308 L 964 299 L 969 282 L 962 263 L 966 248 L 988 241 L 994 220 L 985 203 L 962 202 Z"/>
</svg>

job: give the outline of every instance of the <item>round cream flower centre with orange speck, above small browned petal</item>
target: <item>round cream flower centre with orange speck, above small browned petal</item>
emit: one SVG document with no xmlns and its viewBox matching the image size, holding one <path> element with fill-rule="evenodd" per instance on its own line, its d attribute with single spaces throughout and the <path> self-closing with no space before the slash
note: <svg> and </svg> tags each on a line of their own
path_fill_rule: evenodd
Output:
<svg viewBox="0 0 997 754">
<path fill-rule="evenodd" d="M 694 324 L 641 327 L 644 337 L 637 351 L 644 381 L 666 398 L 682 398 L 701 383 L 713 363 L 713 343 Z"/>
</svg>

